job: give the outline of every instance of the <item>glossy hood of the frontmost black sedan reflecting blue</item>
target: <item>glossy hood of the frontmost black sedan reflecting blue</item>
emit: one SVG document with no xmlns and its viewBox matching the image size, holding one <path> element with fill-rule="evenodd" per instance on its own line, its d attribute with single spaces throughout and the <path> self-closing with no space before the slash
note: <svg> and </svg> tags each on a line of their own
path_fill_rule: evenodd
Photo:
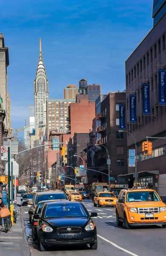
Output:
<svg viewBox="0 0 166 256">
<path fill-rule="evenodd" d="M 52 226 L 56 227 L 82 227 L 89 221 L 89 217 L 86 218 L 47 218 L 46 221 Z"/>
</svg>

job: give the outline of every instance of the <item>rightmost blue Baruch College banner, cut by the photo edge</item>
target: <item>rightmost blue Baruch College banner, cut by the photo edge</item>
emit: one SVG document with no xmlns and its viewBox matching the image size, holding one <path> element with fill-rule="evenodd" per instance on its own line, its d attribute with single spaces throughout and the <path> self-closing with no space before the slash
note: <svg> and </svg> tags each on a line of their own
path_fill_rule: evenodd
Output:
<svg viewBox="0 0 166 256">
<path fill-rule="evenodd" d="M 166 70 L 158 70 L 159 105 L 166 106 Z"/>
</svg>

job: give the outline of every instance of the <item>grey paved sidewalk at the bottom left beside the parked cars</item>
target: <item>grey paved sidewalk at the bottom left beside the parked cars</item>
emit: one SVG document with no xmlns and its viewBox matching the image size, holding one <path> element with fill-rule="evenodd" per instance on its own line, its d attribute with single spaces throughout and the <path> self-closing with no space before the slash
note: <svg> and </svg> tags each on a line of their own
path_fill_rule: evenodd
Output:
<svg viewBox="0 0 166 256">
<path fill-rule="evenodd" d="M 23 218 L 18 215 L 17 223 L 8 233 L 0 232 L 0 256 L 30 256 Z"/>
</svg>

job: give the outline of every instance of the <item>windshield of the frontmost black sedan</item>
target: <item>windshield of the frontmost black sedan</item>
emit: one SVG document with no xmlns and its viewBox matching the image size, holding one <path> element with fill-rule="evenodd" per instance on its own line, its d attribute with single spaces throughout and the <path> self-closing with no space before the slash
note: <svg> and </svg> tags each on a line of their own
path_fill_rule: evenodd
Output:
<svg viewBox="0 0 166 256">
<path fill-rule="evenodd" d="M 85 218 L 87 216 L 80 204 L 54 204 L 46 207 L 44 218 Z"/>
</svg>

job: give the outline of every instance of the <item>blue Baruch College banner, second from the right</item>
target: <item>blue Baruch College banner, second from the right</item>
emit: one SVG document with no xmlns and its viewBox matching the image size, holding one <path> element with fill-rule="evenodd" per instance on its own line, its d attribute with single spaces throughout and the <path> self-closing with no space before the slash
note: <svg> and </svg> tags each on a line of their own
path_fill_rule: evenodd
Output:
<svg viewBox="0 0 166 256">
<path fill-rule="evenodd" d="M 142 84 L 142 87 L 143 115 L 150 115 L 150 84 Z"/>
</svg>

